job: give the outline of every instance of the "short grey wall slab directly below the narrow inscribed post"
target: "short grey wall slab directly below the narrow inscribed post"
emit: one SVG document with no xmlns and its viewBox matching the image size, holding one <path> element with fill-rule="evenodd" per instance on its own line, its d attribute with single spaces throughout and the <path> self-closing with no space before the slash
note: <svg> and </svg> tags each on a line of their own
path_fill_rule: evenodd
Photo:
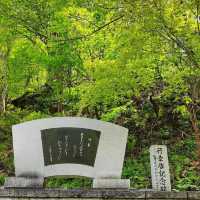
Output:
<svg viewBox="0 0 200 200">
<path fill-rule="evenodd" d="M 146 192 L 147 199 L 187 199 L 187 192 Z"/>
</svg>

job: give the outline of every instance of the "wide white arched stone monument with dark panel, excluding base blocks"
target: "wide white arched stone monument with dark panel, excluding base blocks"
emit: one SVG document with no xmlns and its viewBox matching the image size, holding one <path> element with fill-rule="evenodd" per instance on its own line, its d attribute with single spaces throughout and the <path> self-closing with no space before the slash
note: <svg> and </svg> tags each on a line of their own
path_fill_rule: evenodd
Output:
<svg viewBox="0 0 200 200">
<path fill-rule="evenodd" d="M 121 178 L 128 129 L 95 119 L 55 117 L 12 127 L 18 177 Z"/>
</svg>

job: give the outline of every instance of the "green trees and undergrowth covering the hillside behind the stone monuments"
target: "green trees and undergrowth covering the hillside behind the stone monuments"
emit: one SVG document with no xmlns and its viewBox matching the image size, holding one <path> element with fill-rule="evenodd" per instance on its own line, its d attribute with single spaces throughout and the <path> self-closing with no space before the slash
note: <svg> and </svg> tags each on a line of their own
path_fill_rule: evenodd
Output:
<svg viewBox="0 0 200 200">
<path fill-rule="evenodd" d="M 13 124 L 85 116 L 129 129 L 123 177 L 134 188 L 151 185 L 149 146 L 168 144 L 173 188 L 199 189 L 198 10 L 198 1 L 0 0 L 0 184 L 14 173 Z"/>
</svg>

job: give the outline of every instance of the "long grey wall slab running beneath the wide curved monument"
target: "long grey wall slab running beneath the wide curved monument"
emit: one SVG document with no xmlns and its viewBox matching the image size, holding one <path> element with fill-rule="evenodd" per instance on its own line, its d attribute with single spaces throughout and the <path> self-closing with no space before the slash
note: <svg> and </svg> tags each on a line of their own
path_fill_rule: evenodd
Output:
<svg viewBox="0 0 200 200">
<path fill-rule="evenodd" d="M 125 189 L 4 189 L 0 198 L 145 199 L 145 192 Z"/>
</svg>

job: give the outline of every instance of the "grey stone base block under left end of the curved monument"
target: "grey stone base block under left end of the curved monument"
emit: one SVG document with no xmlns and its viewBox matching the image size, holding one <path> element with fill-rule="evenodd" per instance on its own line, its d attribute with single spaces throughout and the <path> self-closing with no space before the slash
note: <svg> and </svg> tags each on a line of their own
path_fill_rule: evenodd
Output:
<svg viewBox="0 0 200 200">
<path fill-rule="evenodd" d="M 43 183 L 43 177 L 7 177 L 4 188 L 43 188 Z"/>
</svg>

